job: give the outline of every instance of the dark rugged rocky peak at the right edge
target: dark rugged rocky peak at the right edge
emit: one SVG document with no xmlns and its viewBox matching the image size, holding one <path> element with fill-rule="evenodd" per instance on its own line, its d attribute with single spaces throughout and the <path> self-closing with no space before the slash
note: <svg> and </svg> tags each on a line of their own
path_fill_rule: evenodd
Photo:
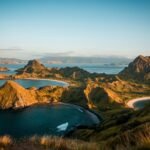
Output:
<svg viewBox="0 0 150 150">
<path fill-rule="evenodd" d="M 123 79 L 150 83 L 150 56 L 138 56 L 119 73 Z"/>
</svg>

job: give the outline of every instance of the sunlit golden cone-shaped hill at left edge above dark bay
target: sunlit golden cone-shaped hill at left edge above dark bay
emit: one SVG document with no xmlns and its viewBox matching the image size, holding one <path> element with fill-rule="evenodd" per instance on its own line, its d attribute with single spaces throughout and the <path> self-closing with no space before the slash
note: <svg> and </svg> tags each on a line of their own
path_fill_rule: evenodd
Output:
<svg viewBox="0 0 150 150">
<path fill-rule="evenodd" d="M 0 88 L 0 108 L 20 108 L 37 103 L 35 92 L 26 90 L 14 81 L 7 81 Z"/>
</svg>

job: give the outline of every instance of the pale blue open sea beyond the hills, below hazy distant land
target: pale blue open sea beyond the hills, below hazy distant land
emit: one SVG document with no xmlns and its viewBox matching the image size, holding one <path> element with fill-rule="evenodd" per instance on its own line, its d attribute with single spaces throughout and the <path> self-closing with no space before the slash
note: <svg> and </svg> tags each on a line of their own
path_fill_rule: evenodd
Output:
<svg viewBox="0 0 150 150">
<path fill-rule="evenodd" d="M 3 74 L 15 74 L 15 70 L 24 67 L 24 64 L 0 64 L 0 66 L 5 66 L 10 69 L 10 71 L 7 72 L 1 72 Z M 78 66 L 84 70 L 87 70 L 91 73 L 96 72 L 96 73 L 107 73 L 107 74 L 117 74 L 123 68 L 125 65 L 106 65 L 106 64 L 45 64 L 45 66 L 51 68 L 51 67 L 58 67 L 58 68 L 63 68 L 63 67 L 74 67 Z"/>
</svg>

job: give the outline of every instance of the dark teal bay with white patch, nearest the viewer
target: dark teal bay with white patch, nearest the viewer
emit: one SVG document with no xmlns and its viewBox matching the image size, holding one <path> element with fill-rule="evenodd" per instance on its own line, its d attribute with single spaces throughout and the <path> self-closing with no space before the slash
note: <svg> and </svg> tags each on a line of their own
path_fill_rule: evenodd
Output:
<svg viewBox="0 0 150 150">
<path fill-rule="evenodd" d="M 95 114 L 70 104 L 0 110 L 0 135 L 64 135 L 76 126 L 91 126 L 99 122 Z"/>
</svg>

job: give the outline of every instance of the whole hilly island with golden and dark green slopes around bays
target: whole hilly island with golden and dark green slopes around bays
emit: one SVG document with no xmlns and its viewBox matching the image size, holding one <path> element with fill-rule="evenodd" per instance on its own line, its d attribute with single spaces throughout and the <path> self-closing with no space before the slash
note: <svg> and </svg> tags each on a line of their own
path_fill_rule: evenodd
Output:
<svg viewBox="0 0 150 150">
<path fill-rule="evenodd" d="M 85 149 L 149 148 L 150 104 L 139 110 L 128 105 L 132 99 L 150 97 L 149 56 L 138 56 L 116 75 L 89 73 L 79 67 L 47 68 L 39 60 L 29 61 L 16 72 L 15 75 L 8 75 L 9 81 L 0 87 L 1 111 L 21 110 L 37 104 L 78 105 L 81 107 L 79 111 L 82 112 L 82 108 L 89 110 L 101 116 L 103 121 L 92 126 L 77 125 L 64 135 L 63 142 L 74 143 L 78 139 L 75 144 L 83 144 Z M 15 81 L 33 78 L 61 80 L 69 85 L 25 88 Z M 63 125 L 68 126 L 68 123 Z M 52 140 L 49 136 L 34 136 L 30 141 L 23 139 L 15 145 L 10 142 L 8 147 L 25 143 L 30 143 L 35 149 L 50 147 Z"/>
</svg>

